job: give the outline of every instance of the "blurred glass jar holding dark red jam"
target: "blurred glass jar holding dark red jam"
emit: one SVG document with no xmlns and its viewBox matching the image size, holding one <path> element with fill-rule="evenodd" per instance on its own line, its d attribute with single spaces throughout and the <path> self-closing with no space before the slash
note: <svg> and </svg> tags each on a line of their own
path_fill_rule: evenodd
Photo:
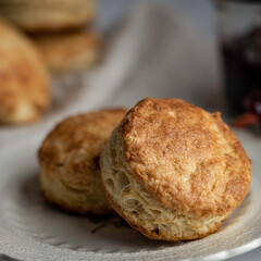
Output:
<svg viewBox="0 0 261 261">
<path fill-rule="evenodd" d="M 261 116 L 261 0 L 216 1 L 231 111 Z"/>
</svg>

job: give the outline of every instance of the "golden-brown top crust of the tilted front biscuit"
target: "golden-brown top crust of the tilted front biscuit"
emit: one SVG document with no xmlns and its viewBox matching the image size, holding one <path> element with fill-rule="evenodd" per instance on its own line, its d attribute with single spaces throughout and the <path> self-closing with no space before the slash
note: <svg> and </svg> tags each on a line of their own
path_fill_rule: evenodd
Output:
<svg viewBox="0 0 261 261">
<path fill-rule="evenodd" d="M 147 98 L 126 114 L 117 135 L 136 178 L 165 207 L 221 216 L 249 190 L 251 161 L 220 113 Z"/>
</svg>

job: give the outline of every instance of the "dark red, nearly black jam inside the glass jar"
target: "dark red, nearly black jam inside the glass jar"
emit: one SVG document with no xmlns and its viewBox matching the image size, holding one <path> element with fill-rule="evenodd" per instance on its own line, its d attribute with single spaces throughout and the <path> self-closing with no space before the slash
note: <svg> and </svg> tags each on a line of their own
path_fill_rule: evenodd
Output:
<svg viewBox="0 0 261 261">
<path fill-rule="evenodd" d="M 251 125 L 261 120 L 261 26 L 224 44 L 222 51 L 231 108 L 244 114 L 235 125 Z"/>
</svg>

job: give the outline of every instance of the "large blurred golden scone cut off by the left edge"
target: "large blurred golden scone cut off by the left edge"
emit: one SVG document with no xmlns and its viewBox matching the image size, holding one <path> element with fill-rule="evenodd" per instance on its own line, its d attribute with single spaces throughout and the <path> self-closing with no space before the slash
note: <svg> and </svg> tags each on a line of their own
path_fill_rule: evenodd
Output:
<svg viewBox="0 0 261 261">
<path fill-rule="evenodd" d="M 37 120 L 50 103 L 49 74 L 35 46 L 0 21 L 0 123 Z"/>
</svg>

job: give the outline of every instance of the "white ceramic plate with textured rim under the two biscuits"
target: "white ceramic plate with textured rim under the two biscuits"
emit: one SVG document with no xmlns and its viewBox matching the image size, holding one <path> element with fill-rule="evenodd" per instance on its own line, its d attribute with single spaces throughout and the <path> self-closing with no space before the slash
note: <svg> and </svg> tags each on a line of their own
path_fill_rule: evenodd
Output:
<svg viewBox="0 0 261 261">
<path fill-rule="evenodd" d="M 39 138 L 0 149 L 0 252 L 18 260 L 222 260 L 261 245 L 261 137 L 238 132 L 252 159 L 251 190 L 221 229 L 200 240 L 149 240 L 120 217 L 94 223 L 46 203 L 39 191 Z"/>
</svg>

